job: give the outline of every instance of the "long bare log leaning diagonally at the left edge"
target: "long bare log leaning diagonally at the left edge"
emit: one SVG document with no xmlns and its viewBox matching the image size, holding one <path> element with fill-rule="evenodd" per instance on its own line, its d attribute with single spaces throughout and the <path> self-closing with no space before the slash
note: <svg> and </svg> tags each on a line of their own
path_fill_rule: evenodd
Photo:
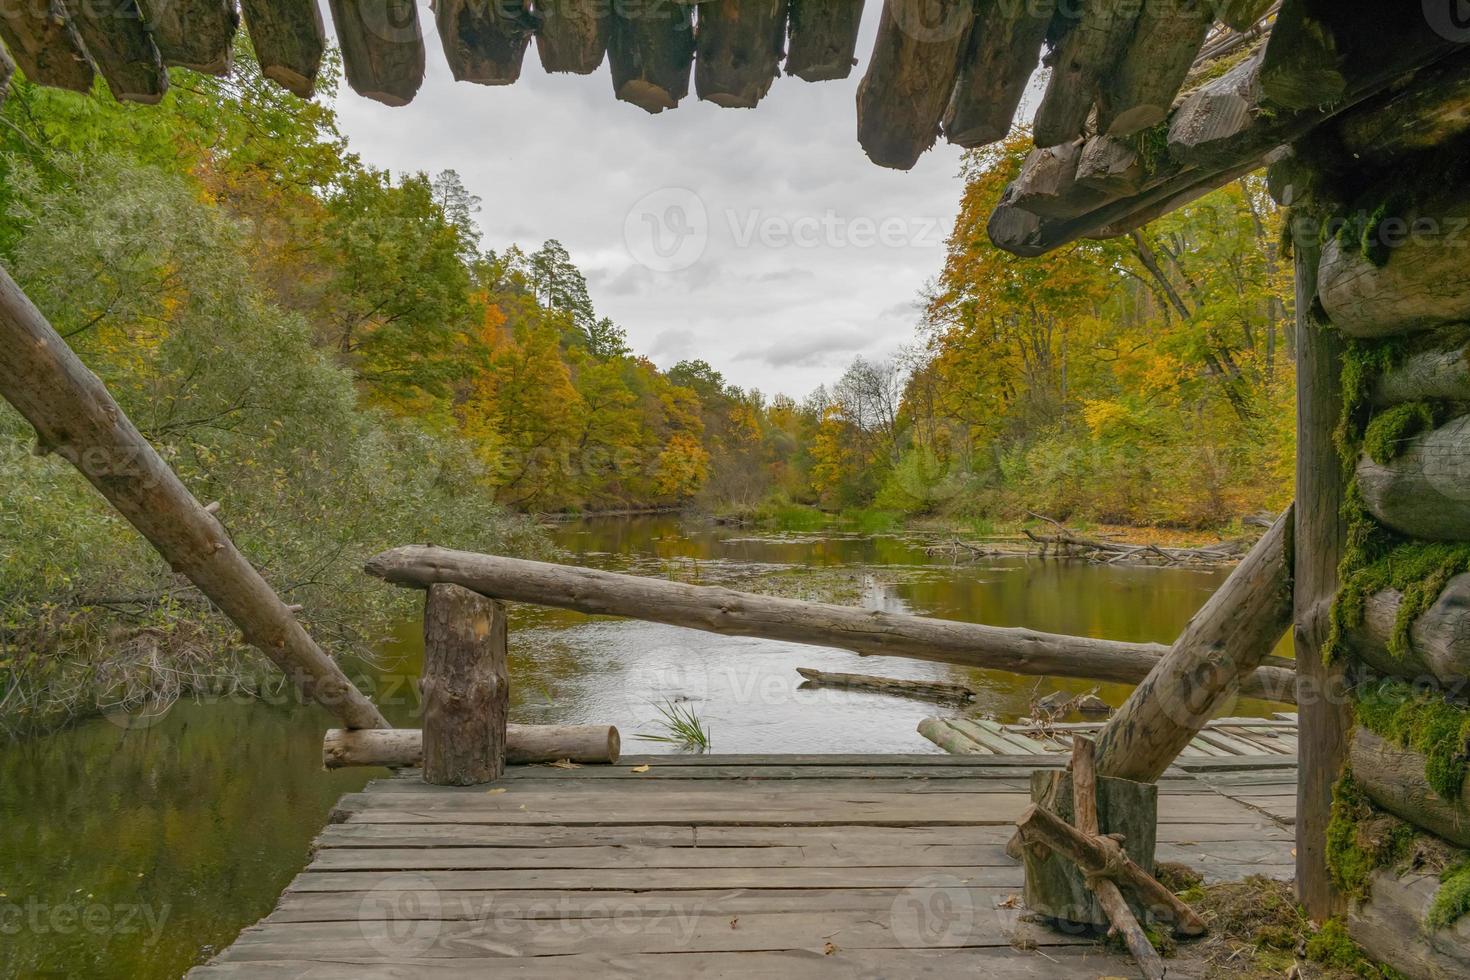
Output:
<svg viewBox="0 0 1470 980">
<path fill-rule="evenodd" d="M 309 699 L 348 727 L 388 727 L 4 269 L 0 395 L 35 426 L 40 451 L 81 470 Z"/>
</svg>

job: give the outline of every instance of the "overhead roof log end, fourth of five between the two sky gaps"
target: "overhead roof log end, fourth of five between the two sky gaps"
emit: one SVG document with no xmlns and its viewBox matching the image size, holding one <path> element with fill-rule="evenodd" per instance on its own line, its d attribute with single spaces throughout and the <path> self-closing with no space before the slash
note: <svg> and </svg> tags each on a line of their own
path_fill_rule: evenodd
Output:
<svg viewBox="0 0 1470 980">
<path fill-rule="evenodd" d="M 725 109 L 754 109 L 781 75 L 786 0 L 720 0 L 700 10 L 694 91 Z"/>
</svg>

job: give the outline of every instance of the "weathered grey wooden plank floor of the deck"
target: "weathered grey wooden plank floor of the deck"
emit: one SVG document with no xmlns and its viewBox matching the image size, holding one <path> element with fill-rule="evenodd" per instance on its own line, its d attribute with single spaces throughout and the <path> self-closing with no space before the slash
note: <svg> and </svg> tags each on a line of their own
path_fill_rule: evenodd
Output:
<svg viewBox="0 0 1470 980">
<path fill-rule="evenodd" d="M 1289 877 L 1291 832 L 1250 801 L 1295 768 L 1213 763 L 1160 782 L 1158 860 Z M 404 773 L 344 796 L 276 909 L 190 976 L 1136 976 L 1017 907 L 1004 845 L 1030 770 L 1057 764 L 645 757 L 465 789 Z"/>
</svg>

